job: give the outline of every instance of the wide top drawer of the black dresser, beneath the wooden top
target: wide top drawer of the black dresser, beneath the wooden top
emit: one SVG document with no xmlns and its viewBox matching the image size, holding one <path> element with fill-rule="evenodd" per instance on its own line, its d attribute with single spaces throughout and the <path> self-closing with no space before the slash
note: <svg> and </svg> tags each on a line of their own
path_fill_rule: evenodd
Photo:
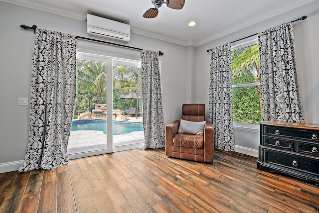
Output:
<svg viewBox="0 0 319 213">
<path fill-rule="evenodd" d="M 295 128 L 285 128 L 281 126 L 264 126 L 265 135 L 286 136 L 294 138 L 309 139 L 319 141 L 319 131 L 316 130 L 303 130 Z"/>
</svg>

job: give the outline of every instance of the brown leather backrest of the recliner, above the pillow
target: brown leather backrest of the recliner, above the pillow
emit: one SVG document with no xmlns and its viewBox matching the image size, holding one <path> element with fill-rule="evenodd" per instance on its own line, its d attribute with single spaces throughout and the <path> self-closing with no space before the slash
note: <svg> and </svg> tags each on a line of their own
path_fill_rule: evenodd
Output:
<svg viewBox="0 0 319 213">
<path fill-rule="evenodd" d="M 183 104 L 181 119 L 189 121 L 205 120 L 205 104 Z"/>
</svg>

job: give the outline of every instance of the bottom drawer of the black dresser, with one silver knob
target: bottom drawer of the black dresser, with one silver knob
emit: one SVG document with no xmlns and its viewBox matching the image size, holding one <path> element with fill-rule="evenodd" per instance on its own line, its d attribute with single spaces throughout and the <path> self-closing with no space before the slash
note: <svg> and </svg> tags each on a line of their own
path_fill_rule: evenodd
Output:
<svg viewBox="0 0 319 213">
<path fill-rule="evenodd" d="M 265 149 L 265 162 L 281 166 L 307 170 L 305 157 L 287 154 L 284 152 Z"/>
</svg>

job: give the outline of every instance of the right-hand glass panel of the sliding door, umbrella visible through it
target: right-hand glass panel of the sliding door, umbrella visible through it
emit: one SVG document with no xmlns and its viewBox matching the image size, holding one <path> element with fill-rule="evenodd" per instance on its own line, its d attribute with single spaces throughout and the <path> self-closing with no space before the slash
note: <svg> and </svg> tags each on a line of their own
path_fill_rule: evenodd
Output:
<svg viewBox="0 0 319 213">
<path fill-rule="evenodd" d="M 144 143 L 142 70 L 134 67 L 139 64 L 113 63 L 113 148 L 140 148 Z"/>
</svg>

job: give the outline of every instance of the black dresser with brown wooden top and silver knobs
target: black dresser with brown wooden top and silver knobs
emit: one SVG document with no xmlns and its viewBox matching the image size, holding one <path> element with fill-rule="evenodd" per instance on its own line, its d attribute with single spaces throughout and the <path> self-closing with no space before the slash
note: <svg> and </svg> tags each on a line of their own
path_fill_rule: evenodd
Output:
<svg viewBox="0 0 319 213">
<path fill-rule="evenodd" d="M 319 185 L 319 124 L 261 122 L 257 169 Z"/>
</svg>

